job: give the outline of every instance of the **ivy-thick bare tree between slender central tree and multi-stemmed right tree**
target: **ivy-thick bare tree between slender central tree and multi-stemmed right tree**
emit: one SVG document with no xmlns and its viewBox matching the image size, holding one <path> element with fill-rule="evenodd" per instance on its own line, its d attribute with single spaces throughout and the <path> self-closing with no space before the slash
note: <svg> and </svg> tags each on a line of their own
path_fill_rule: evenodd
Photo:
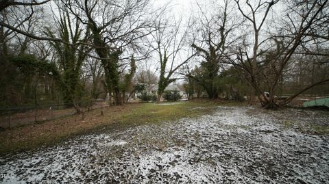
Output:
<svg viewBox="0 0 329 184">
<path fill-rule="evenodd" d="M 202 57 L 203 61 L 199 68 L 202 75 L 193 76 L 190 71 L 186 74 L 203 86 L 208 98 L 218 98 L 216 79 L 223 65 L 224 53 L 239 38 L 233 36 L 233 33 L 236 27 L 241 25 L 241 21 L 234 17 L 234 14 L 230 14 L 234 9 L 231 1 L 216 5 L 216 9 L 215 14 L 209 15 L 207 10 L 199 5 L 201 15 L 195 20 L 195 34 L 191 47 Z"/>
</svg>

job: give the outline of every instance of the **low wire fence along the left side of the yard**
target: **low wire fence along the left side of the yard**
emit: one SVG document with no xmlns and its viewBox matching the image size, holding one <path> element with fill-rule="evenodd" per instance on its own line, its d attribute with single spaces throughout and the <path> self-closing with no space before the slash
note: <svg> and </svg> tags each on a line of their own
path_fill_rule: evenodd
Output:
<svg viewBox="0 0 329 184">
<path fill-rule="evenodd" d="M 82 101 L 76 104 L 83 110 L 108 106 L 106 101 Z M 0 130 L 55 120 L 71 116 L 76 112 L 73 103 L 0 108 Z"/>
</svg>

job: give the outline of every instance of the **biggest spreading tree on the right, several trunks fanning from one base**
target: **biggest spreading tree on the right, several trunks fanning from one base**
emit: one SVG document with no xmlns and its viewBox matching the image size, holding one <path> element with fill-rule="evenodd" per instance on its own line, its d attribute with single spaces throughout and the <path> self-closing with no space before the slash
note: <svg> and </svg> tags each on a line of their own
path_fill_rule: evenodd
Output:
<svg viewBox="0 0 329 184">
<path fill-rule="evenodd" d="M 318 23 L 324 26 L 323 18 L 325 16 L 321 16 L 321 12 L 326 12 L 327 10 L 324 10 L 324 8 L 328 7 L 328 1 L 289 1 L 291 3 L 291 7 L 288 8 L 289 14 L 286 14 L 281 19 L 284 24 L 278 25 L 272 23 L 278 26 L 278 29 L 276 29 L 277 32 L 269 35 L 262 42 L 259 42 L 259 31 L 264 25 L 271 7 L 277 2 L 259 1 L 256 5 L 252 5 L 247 1 L 246 6 L 249 8 L 249 13 L 245 13 L 245 10 L 241 8 L 241 3 L 236 1 L 241 14 L 253 25 L 254 42 L 252 57 L 249 57 L 248 51 L 245 49 L 247 47 L 240 47 L 236 51 L 236 58 L 240 62 L 237 64 L 235 60 L 232 61 L 232 64 L 240 66 L 244 70 L 245 77 L 254 88 L 260 103 L 268 108 L 278 105 L 274 94 L 276 88 L 278 88 L 280 79 L 282 79 L 284 70 L 291 61 L 291 56 L 296 53 L 298 48 L 302 47 L 302 44 L 312 40 L 308 39 L 312 27 L 317 27 L 316 25 Z M 257 19 L 262 12 L 260 24 L 257 25 Z M 271 26 L 274 27 L 273 25 Z M 261 44 L 263 44 L 263 49 L 259 49 Z M 267 46 L 264 46 L 264 44 L 267 44 Z M 263 79 L 263 82 L 260 79 Z M 306 88 L 312 88 L 314 85 L 326 81 L 327 79 L 313 83 Z M 269 90 L 269 97 L 264 94 L 265 88 Z M 280 102 L 280 104 L 288 103 L 297 94 Z"/>
</svg>

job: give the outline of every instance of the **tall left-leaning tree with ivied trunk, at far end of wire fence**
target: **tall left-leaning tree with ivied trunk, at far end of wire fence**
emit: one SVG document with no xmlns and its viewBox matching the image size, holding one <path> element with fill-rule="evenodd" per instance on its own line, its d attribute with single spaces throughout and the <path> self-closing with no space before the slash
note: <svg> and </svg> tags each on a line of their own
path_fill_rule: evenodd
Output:
<svg viewBox="0 0 329 184">
<path fill-rule="evenodd" d="M 130 60 L 127 50 L 138 51 L 138 41 L 148 33 L 148 0 L 125 1 L 63 1 L 79 20 L 90 28 L 93 47 L 101 59 L 108 91 L 114 103 L 123 103 L 119 68 L 123 59 Z M 101 17 L 101 18 L 100 18 Z M 122 57 L 127 55 L 126 57 Z"/>
</svg>

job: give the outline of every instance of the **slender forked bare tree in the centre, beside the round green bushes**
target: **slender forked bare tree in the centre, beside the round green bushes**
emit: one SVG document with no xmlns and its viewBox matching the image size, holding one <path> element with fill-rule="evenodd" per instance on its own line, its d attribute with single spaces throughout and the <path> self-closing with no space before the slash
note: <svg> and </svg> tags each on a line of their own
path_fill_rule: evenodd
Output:
<svg viewBox="0 0 329 184">
<path fill-rule="evenodd" d="M 154 23 L 156 31 L 151 34 L 153 40 L 150 44 L 156 52 L 156 57 L 158 57 L 156 60 L 159 64 L 158 102 L 165 88 L 178 79 L 174 77 L 178 69 L 196 55 L 186 50 L 188 26 L 183 27 L 182 18 L 176 20 L 165 16 L 165 14 L 160 14 Z"/>
</svg>

